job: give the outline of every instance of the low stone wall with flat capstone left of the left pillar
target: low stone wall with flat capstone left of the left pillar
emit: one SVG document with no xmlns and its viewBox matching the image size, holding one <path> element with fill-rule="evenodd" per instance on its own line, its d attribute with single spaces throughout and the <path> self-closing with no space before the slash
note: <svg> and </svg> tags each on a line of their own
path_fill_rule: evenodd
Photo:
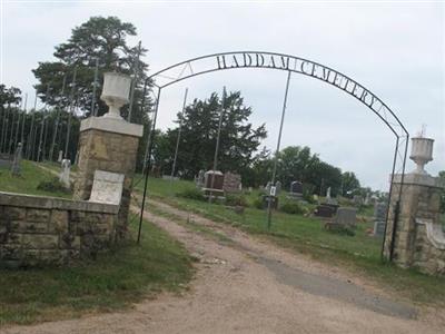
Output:
<svg viewBox="0 0 445 334">
<path fill-rule="evenodd" d="M 0 193 L 0 266 L 63 265 L 116 240 L 119 206 Z"/>
</svg>

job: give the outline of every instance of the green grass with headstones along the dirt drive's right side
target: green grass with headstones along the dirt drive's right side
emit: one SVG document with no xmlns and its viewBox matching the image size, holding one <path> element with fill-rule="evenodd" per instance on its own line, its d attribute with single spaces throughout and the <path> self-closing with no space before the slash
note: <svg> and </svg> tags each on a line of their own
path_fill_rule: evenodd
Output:
<svg viewBox="0 0 445 334">
<path fill-rule="evenodd" d="M 367 235 L 367 229 L 373 227 L 369 219 L 358 223 L 355 236 L 349 236 L 327 232 L 324 223 L 317 218 L 274 212 L 271 228 L 267 230 L 265 210 L 249 207 L 245 209 L 244 215 L 239 215 L 224 205 L 175 196 L 194 186 L 191 181 L 180 180 L 172 183 L 170 188 L 168 180 L 149 178 L 148 196 L 216 222 L 237 226 L 317 261 L 347 267 L 413 302 L 445 306 L 444 277 L 405 271 L 380 261 L 382 238 Z M 136 189 L 144 189 L 144 181 L 139 183 Z M 255 196 L 257 194 L 248 195 L 248 202 L 251 203 Z"/>
</svg>

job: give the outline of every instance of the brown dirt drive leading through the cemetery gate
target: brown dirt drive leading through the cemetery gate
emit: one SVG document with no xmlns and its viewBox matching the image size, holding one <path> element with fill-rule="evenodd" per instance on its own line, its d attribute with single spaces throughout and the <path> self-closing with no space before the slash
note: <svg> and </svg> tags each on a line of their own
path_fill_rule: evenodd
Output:
<svg viewBox="0 0 445 334">
<path fill-rule="evenodd" d="M 0 332 L 443 333 L 443 311 L 416 310 L 339 269 L 166 204 L 152 205 L 182 218 L 178 224 L 146 214 L 199 258 L 189 292 L 164 294 L 129 312 Z"/>
</svg>

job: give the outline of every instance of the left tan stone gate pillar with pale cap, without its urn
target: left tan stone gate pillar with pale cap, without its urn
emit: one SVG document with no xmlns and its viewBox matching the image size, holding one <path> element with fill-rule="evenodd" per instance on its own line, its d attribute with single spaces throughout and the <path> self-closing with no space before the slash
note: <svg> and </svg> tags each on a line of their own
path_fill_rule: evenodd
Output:
<svg viewBox="0 0 445 334">
<path fill-rule="evenodd" d="M 131 185 L 142 129 L 141 125 L 108 117 L 90 117 L 82 120 L 80 125 L 75 199 L 88 200 L 90 198 L 97 169 L 123 174 L 118 237 L 123 237 L 127 229 Z"/>
</svg>

